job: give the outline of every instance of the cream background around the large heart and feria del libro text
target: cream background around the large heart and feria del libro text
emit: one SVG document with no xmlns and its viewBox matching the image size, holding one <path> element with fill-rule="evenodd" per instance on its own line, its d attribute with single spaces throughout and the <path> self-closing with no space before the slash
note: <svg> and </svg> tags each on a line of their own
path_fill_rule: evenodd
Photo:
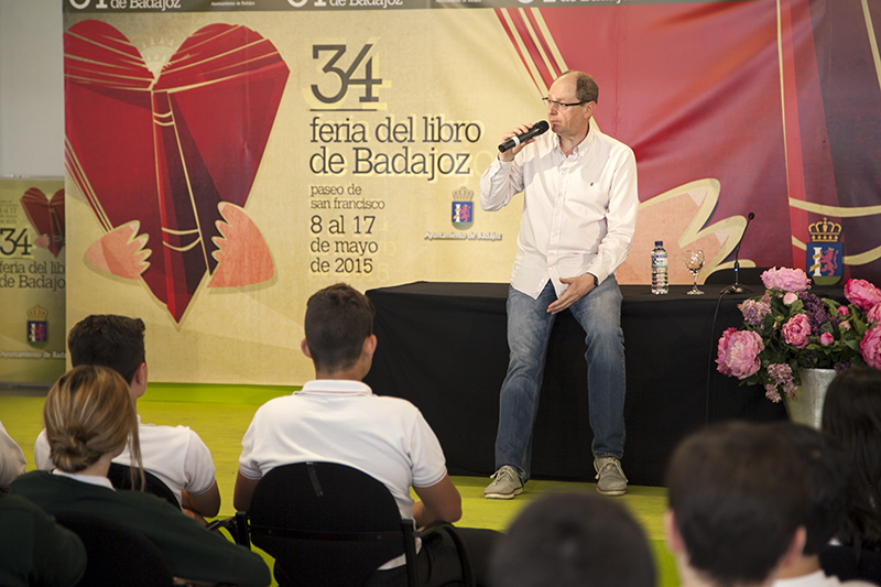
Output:
<svg viewBox="0 0 881 587">
<path fill-rule="evenodd" d="M 68 14 L 65 28 L 86 18 L 95 15 Z M 215 22 L 246 25 L 275 45 L 291 73 L 244 207 L 270 249 L 274 276 L 222 290 L 207 289 L 206 278 L 177 324 L 142 282 L 85 262 L 86 249 L 104 232 L 68 177 L 68 327 L 95 313 L 140 316 L 153 381 L 298 384 L 313 374 L 300 341 L 306 300 L 319 287 L 339 281 L 361 291 L 422 280 L 508 281 L 521 202 L 483 213 L 478 182 L 502 132 L 545 112 L 491 10 L 108 14 L 100 20 L 124 34 L 151 68 Z M 372 44 L 372 77 L 382 79 L 373 88 L 377 111 L 361 109 L 363 89 L 355 85 L 334 105 L 350 110 L 312 110 L 323 106 L 312 85 L 325 95 L 338 88 L 334 76 L 322 72 L 327 54 L 313 58 L 313 46 L 327 44 L 346 46 L 342 68 Z M 443 123 L 459 123 L 458 141 Z M 358 129 L 363 129 L 360 139 Z M 426 142 L 433 138 L 448 140 Z M 344 157 L 345 171 L 315 173 L 320 169 L 315 156 L 323 152 Z M 412 173 L 414 165 L 422 171 L 417 154 L 433 157 L 433 178 Z M 384 170 L 383 157 L 396 161 L 402 173 L 365 173 Z M 317 195 L 337 189 L 345 195 Z M 476 209 L 465 229 L 452 222 L 452 204 L 463 193 L 472 195 Z M 384 207 L 338 207 L 360 200 Z"/>
</svg>

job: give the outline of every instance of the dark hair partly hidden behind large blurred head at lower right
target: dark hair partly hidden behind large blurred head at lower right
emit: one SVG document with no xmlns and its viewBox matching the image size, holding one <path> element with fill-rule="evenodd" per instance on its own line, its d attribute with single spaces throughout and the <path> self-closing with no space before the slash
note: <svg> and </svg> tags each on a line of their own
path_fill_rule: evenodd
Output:
<svg viewBox="0 0 881 587">
<path fill-rule="evenodd" d="M 805 520 L 804 555 L 816 556 L 844 522 L 850 467 L 840 444 L 818 430 L 792 422 L 779 422 L 772 427 L 807 467 L 811 510 Z"/>
</svg>

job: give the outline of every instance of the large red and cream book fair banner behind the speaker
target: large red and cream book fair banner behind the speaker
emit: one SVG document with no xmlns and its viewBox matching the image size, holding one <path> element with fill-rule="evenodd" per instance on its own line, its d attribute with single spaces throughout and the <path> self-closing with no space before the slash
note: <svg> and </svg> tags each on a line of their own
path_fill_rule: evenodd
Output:
<svg viewBox="0 0 881 587">
<path fill-rule="evenodd" d="M 648 287 L 655 240 L 690 283 L 685 249 L 707 274 L 741 236 L 742 265 L 881 282 L 878 2 L 64 11 L 68 324 L 141 316 L 153 380 L 302 383 L 305 302 L 337 281 L 507 281 L 522 199 L 480 210 L 479 177 L 570 68 L 637 154 L 620 282 Z"/>
</svg>

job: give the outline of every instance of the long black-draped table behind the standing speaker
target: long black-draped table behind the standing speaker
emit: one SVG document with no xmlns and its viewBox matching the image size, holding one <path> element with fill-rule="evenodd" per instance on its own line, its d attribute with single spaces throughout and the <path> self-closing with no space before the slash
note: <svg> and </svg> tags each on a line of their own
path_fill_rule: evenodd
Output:
<svg viewBox="0 0 881 587">
<path fill-rule="evenodd" d="M 645 285 L 622 285 L 621 319 L 627 355 L 627 445 L 623 467 L 631 483 L 663 485 L 676 443 L 707 422 L 786 417 L 763 390 L 739 385 L 716 371 L 716 344 L 740 326 L 737 304 L 757 295 L 686 295 L 673 285 L 652 295 Z M 815 287 L 841 298 L 840 287 Z M 450 475 L 487 476 L 499 389 L 508 367 L 505 283 L 417 282 L 367 292 L 377 307 L 379 339 L 365 381 L 378 394 L 413 402 L 434 428 Z M 717 307 L 718 306 L 718 307 Z M 717 314 L 718 311 L 718 314 Z M 557 316 L 545 367 L 533 438 L 532 476 L 592 481 L 584 333 L 569 312 Z"/>
</svg>

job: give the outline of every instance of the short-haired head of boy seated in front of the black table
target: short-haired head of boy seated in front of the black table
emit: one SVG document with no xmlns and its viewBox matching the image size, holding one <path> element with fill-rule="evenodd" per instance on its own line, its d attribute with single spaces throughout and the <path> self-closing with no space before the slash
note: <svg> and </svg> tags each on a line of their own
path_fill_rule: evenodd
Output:
<svg viewBox="0 0 881 587">
<path fill-rule="evenodd" d="M 365 345 L 376 344 L 374 314 L 373 303 L 345 283 L 315 292 L 306 304 L 303 325 L 303 352 L 315 363 L 315 371 L 333 374 L 356 367 Z"/>
</svg>

